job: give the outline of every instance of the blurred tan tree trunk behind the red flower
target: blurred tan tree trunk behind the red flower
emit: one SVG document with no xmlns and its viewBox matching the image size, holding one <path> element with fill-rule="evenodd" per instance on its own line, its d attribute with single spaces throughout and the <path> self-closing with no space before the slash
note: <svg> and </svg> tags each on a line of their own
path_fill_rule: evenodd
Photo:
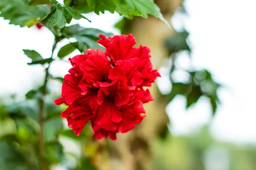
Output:
<svg viewBox="0 0 256 170">
<path fill-rule="evenodd" d="M 169 21 L 182 0 L 155 0 L 155 3 Z M 159 68 L 163 57 L 168 56 L 163 40 L 171 36 L 173 32 L 165 23 L 152 16 L 148 19 L 134 18 L 129 24 L 137 44 L 148 46 L 151 49 L 151 62 L 154 68 Z M 119 134 L 118 140 L 111 142 L 111 170 L 152 170 L 154 139 L 163 127 L 166 127 L 169 119 L 165 112 L 167 103 L 162 102 L 157 86 L 153 84 L 149 89 L 155 100 L 144 104 L 146 118 L 134 130 Z"/>
</svg>

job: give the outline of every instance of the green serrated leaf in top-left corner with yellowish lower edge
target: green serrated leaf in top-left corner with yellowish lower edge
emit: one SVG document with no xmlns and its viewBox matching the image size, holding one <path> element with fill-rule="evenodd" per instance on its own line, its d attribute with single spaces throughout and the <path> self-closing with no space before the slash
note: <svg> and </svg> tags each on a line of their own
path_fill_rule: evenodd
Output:
<svg viewBox="0 0 256 170">
<path fill-rule="evenodd" d="M 10 20 L 9 24 L 30 27 L 49 13 L 46 6 L 28 7 L 28 3 L 29 0 L 0 0 L 0 17 Z"/>
</svg>

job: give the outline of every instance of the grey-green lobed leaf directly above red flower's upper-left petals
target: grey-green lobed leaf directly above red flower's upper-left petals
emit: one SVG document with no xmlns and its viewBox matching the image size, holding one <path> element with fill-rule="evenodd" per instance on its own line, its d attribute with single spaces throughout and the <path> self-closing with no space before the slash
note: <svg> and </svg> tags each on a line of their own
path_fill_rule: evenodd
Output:
<svg viewBox="0 0 256 170">
<path fill-rule="evenodd" d="M 84 53 L 84 50 L 89 48 L 99 48 L 101 50 L 104 49 L 96 42 L 97 40 L 99 40 L 99 34 L 112 36 L 112 34 L 105 33 L 104 31 L 101 31 L 99 29 L 84 28 L 79 26 L 78 24 L 63 28 L 63 34 L 67 38 L 76 38 L 77 42 L 73 45 L 77 45 L 76 48 L 78 48 L 81 53 Z"/>
</svg>

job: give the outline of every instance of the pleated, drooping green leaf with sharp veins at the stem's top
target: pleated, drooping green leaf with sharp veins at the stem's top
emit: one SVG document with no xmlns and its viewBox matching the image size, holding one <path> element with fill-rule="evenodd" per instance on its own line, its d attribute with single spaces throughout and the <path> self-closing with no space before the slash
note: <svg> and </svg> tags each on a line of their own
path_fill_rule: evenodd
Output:
<svg viewBox="0 0 256 170">
<path fill-rule="evenodd" d="M 75 20 L 85 18 L 75 9 L 70 8 L 69 6 L 62 6 L 56 0 L 50 0 L 50 8 L 51 12 L 42 20 L 40 20 L 40 22 L 48 28 L 53 28 L 55 26 L 63 28 L 66 23 L 69 24 L 71 22 L 72 18 Z"/>
</svg>

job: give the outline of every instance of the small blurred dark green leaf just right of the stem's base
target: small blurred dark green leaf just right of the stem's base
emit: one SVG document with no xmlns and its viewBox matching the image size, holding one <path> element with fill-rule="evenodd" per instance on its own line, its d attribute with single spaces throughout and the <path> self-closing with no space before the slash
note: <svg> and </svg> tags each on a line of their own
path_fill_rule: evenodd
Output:
<svg viewBox="0 0 256 170">
<path fill-rule="evenodd" d="M 60 142 L 46 143 L 46 158 L 49 164 L 59 164 L 63 161 L 64 152 Z"/>
</svg>

